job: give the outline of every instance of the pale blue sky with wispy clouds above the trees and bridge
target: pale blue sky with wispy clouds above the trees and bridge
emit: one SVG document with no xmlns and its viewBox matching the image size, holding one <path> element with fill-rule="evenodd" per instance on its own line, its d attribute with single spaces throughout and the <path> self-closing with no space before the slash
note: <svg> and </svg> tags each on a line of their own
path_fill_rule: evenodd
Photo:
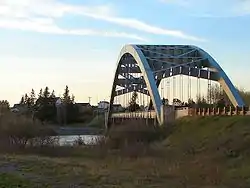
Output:
<svg viewBox="0 0 250 188">
<path fill-rule="evenodd" d="M 125 44 L 190 44 L 250 90 L 249 0 L 0 0 L 0 99 L 48 86 L 108 99 Z"/>
</svg>

